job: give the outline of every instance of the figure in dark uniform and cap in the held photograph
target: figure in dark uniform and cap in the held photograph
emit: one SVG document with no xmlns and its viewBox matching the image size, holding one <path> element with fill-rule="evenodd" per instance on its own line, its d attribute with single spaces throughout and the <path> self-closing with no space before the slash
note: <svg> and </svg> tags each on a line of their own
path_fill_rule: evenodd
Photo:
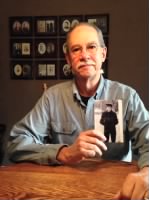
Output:
<svg viewBox="0 0 149 200">
<path fill-rule="evenodd" d="M 112 110 L 112 104 L 106 104 L 106 110 L 102 113 L 100 123 L 104 126 L 104 135 L 109 142 L 111 136 L 111 141 L 116 140 L 116 124 L 118 124 L 118 119 L 116 113 Z"/>
</svg>

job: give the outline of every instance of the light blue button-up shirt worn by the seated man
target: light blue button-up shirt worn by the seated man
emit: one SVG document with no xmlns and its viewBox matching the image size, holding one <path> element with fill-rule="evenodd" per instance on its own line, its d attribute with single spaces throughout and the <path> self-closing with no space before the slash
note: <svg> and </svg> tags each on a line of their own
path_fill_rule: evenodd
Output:
<svg viewBox="0 0 149 200">
<path fill-rule="evenodd" d="M 132 150 L 139 166 L 149 165 L 149 112 L 137 92 L 129 86 L 101 77 L 96 94 L 87 106 L 82 102 L 74 80 L 50 87 L 35 107 L 11 130 L 10 159 L 56 164 L 63 145 L 71 145 L 81 131 L 94 129 L 95 100 L 123 102 L 124 143 L 107 144 L 104 159 L 131 161 Z"/>
</svg>

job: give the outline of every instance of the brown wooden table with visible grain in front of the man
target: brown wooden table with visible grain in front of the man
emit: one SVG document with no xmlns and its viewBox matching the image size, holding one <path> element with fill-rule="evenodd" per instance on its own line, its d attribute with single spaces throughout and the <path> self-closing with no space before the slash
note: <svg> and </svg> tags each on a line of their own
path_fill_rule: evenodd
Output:
<svg viewBox="0 0 149 200">
<path fill-rule="evenodd" d="M 87 160 L 75 166 L 0 167 L 0 200 L 112 200 L 135 163 Z"/>
</svg>

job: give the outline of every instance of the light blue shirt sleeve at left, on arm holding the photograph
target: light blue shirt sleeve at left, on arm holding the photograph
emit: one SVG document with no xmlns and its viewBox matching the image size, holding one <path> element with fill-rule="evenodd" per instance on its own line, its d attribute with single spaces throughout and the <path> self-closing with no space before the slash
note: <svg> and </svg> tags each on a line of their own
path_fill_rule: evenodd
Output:
<svg viewBox="0 0 149 200">
<path fill-rule="evenodd" d="M 64 144 L 47 144 L 50 138 L 50 105 L 43 95 L 35 107 L 18 123 L 8 141 L 8 157 L 12 162 L 34 162 L 41 165 L 59 164 L 56 160 Z"/>
</svg>

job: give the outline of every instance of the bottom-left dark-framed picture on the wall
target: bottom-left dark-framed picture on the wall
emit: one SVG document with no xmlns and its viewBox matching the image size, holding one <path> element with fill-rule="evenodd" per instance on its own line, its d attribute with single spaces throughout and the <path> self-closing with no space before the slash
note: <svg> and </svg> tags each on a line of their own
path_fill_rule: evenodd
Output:
<svg viewBox="0 0 149 200">
<path fill-rule="evenodd" d="M 12 79 L 33 79 L 32 61 L 11 61 Z"/>
</svg>

